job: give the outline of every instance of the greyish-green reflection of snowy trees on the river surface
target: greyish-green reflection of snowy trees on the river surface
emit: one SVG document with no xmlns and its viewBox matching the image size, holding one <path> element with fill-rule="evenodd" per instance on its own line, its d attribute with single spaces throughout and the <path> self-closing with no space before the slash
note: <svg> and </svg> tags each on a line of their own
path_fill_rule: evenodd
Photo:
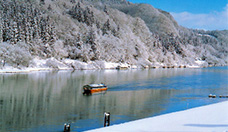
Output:
<svg viewBox="0 0 228 132">
<path fill-rule="evenodd" d="M 174 91 L 148 89 L 108 91 L 106 94 L 83 96 L 82 86 L 105 82 L 112 85 L 148 78 L 183 74 L 184 70 L 128 70 L 36 72 L 0 75 L 0 131 L 22 130 L 42 124 L 62 125 L 66 121 L 101 118 L 104 111 L 115 115 L 143 118 L 159 113 L 160 104 Z M 6 128 L 7 126 L 7 128 Z"/>
</svg>

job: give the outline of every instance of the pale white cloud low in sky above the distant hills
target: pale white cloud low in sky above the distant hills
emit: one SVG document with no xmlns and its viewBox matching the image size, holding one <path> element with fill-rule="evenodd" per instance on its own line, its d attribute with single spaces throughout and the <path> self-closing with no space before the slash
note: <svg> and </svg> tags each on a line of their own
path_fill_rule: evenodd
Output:
<svg viewBox="0 0 228 132">
<path fill-rule="evenodd" d="M 189 12 L 171 13 L 175 20 L 184 27 L 205 30 L 228 30 L 228 4 L 222 12 L 192 14 Z"/>
</svg>

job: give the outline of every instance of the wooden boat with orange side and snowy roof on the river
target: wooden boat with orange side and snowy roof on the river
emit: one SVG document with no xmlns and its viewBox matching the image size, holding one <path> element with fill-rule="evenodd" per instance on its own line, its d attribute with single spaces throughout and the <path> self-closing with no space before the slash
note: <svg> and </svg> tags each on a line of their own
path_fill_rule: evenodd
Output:
<svg viewBox="0 0 228 132">
<path fill-rule="evenodd" d="M 83 90 L 84 90 L 83 94 L 92 94 L 95 92 L 102 92 L 102 91 L 106 91 L 107 89 L 108 89 L 108 87 L 103 83 L 84 85 L 83 86 Z"/>
</svg>

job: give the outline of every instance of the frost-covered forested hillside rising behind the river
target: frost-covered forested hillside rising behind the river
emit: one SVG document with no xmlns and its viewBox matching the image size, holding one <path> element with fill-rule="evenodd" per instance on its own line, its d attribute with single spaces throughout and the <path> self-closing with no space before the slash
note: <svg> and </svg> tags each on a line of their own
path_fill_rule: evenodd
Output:
<svg viewBox="0 0 228 132">
<path fill-rule="evenodd" d="M 228 63 L 227 30 L 187 29 L 168 12 L 147 4 L 126 0 L 6 0 L 0 1 L 0 14 L 0 69 Z"/>
</svg>

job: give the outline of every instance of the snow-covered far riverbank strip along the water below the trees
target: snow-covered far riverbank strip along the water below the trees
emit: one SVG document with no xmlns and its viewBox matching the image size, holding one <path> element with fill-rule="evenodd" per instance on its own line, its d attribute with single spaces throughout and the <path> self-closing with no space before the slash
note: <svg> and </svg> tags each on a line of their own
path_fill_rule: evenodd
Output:
<svg viewBox="0 0 228 132">
<path fill-rule="evenodd" d="M 165 64 L 156 65 L 131 65 L 128 63 L 113 63 L 106 61 L 91 61 L 88 63 L 78 60 L 63 59 L 57 60 L 55 58 L 39 59 L 34 58 L 29 67 L 18 66 L 13 67 L 8 64 L 0 65 L 0 73 L 19 73 L 32 72 L 44 70 L 97 70 L 97 69 L 145 69 L 145 68 L 200 68 L 204 62 L 196 61 L 196 65 L 173 65 L 167 66 Z"/>
</svg>

